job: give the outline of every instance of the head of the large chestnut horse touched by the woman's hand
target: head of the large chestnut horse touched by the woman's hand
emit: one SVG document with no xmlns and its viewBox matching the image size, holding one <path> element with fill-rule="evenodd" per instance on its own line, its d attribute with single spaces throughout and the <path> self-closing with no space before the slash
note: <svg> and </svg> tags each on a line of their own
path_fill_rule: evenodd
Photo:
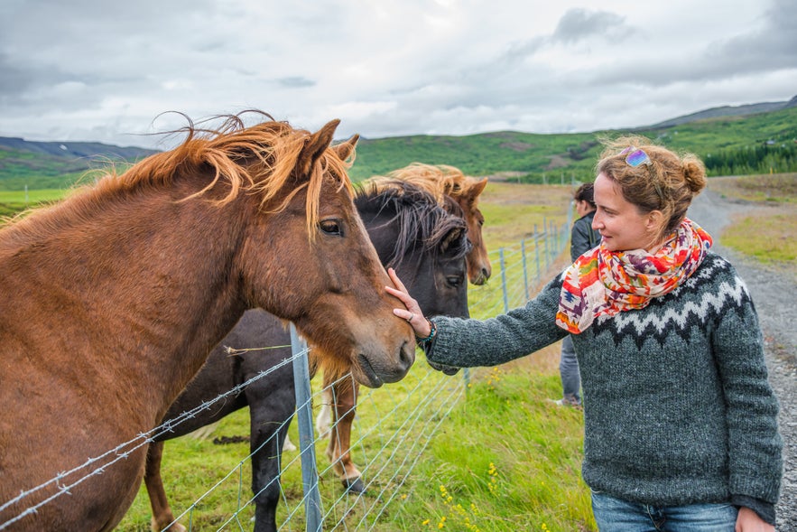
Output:
<svg viewBox="0 0 797 532">
<path fill-rule="evenodd" d="M 237 271 L 249 306 L 294 322 L 326 367 L 350 369 L 360 383 L 379 387 L 410 369 L 414 339 L 393 313 L 400 303 L 385 292 L 390 280 L 354 207 L 346 160 L 357 135 L 332 147 L 336 126 L 312 135 L 284 131 L 250 159 L 264 192 L 248 195 Z M 267 188 L 273 179 L 278 189 Z M 267 266 L 273 260 L 266 256 L 280 259 Z"/>
</svg>

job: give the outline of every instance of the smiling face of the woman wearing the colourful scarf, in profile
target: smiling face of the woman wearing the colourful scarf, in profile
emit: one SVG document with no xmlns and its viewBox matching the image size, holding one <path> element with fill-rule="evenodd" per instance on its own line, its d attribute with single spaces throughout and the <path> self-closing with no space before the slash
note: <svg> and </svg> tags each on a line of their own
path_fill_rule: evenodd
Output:
<svg viewBox="0 0 797 532">
<path fill-rule="evenodd" d="M 598 229 L 609 251 L 652 252 L 658 246 L 657 222 L 662 213 L 653 210 L 642 214 L 634 203 L 626 201 L 620 186 L 605 173 L 598 173 L 595 180 L 595 204 L 598 210 L 592 219 L 592 229 Z"/>
</svg>

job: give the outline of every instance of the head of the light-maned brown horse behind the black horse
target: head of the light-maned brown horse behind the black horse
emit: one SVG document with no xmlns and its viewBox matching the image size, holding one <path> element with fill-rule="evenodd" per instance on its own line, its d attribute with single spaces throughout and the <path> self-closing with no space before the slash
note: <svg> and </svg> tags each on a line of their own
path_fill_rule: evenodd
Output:
<svg viewBox="0 0 797 532">
<path fill-rule="evenodd" d="M 478 197 L 487 186 L 487 178 L 477 181 L 454 166 L 423 163 L 412 163 L 388 173 L 387 176 L 411 182 L 430 192 L 443 208 L 446 208 L 447 196 L 459 204 L 468 223 L 468 239 L 472 245 L 468 253 L 468 279 L 474 285 L 484 285 L 493 273 L 487 256 L 487 246 L 482 238 L 481 229 L 485 217 L 478 210 Z"/>
</svg>

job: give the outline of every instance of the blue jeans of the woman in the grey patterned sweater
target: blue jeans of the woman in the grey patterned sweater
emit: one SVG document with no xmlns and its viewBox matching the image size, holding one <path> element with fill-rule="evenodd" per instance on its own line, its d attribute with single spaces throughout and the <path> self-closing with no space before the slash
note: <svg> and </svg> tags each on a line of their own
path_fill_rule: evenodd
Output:
<svg viewBox="0 0 797 532">
<path fill-rule="evenodd" d="M 600 532 L 734 532 L 738 510 L 728 503 L 654 507 L 592 492 Z"/>
</svg>

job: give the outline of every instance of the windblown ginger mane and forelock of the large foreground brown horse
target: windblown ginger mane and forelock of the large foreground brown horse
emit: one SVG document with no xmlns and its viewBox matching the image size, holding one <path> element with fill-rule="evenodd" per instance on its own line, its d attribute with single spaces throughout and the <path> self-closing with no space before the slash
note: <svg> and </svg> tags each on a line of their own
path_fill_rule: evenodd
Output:
<svg viewBox="0 0 797 532">
<path fill-rule="evenodd" d="M 245 114 L 260 115 L 266 120 L 247 127 L 243 120 Z M 287 122 L 277 122 L 270 115 L 256 110 L 211 118 L 223 121 L 218 128 L 197 127 L 189 117 L 185 118 L 188 126 L 167 132 L 185 135 L 181 145 L 151 155 L 124 173 L 117 173 L 116 167 L 110 166 L 95 185 L 80 187 L 70 195 L 68 201 L 72 201 L 73 209 L 86 212 L 102 203 L 104 198 L 120 192 L 169 186 L 181 173 L 204 174 L 210 169 L 213 174 L 208 184 L 182 201 L 202 196 L 217 183 L 226 182 L 229 186 L 227 195 L 213 203 L 219 206 L 227 204 L 242 192 L 259 194 L 265 212 L 278 212 L 287 206 L 297 192 L 308 187 L 307 227 L 311 236 L 314 231 L 310 229 L 318 222 L 320 191 L 325 176 L 336 180 L 339 187 L 346 187 L 354 193 L 348 178 L 351 164 L 342 161 L 334 150 L 327 149 L 319 163 L 313 165 L 308 182 L 290 191 L 280 203 L 269 206 L 291 179 L 302 148 L 310 140 L 310 132 L 294 129 Z M 30 218 L 22 222 L 28 222 Z M 27 225 L 22 222 L 17 225 Z"/>
</svg>

